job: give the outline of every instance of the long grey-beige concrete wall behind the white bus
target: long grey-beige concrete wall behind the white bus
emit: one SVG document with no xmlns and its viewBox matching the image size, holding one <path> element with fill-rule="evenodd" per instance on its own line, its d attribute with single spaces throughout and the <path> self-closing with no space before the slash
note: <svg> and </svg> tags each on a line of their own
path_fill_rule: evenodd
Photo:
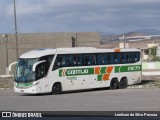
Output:
<svg viewBox="0 0 160 120">
<path fill-rule="evenodd" d="M 14 34 L 8 34 L 3 37 L 0 34 L 0 75 L 6 74 L 7 54 L 6 41 L 8 50 L 8 63 L 15 62 L 16 59 L 16 40 Z M 78 47 L 99 47 L 99 33 L 97 32 L 62 32 L 62 33 L 19 33 L 18 34 L 18 51 L 19 55 L 24 52 L 38 48 L 58 48 L 72 47 L 72 39 L 75 39 Z M 14 68 L 12 69 L 14 71 Z M 12 72 L 13 74 L 13 72 Z"/>
</svg>

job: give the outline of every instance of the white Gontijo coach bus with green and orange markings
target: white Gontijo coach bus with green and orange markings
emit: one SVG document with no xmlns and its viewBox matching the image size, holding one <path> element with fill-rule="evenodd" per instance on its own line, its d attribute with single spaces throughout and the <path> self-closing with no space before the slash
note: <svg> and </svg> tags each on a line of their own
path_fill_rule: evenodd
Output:
<svg viewBox="0 0 160 120">
<path fill-rule="evenodd" d="M 140 83 L 141 69 L 140 49 L 36 49 L 19 57 L 14 90 L 58 94 L 92 88 L 121 89 Z"/>
</svg>

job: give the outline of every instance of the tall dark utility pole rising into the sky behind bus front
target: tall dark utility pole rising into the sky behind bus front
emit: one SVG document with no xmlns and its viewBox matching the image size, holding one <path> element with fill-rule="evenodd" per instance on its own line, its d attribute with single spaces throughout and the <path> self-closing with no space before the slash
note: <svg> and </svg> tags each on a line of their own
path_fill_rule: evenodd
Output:
<svg viewBox="0 0 160 120">
<path fill-rule="evenodd" d="M 19 58 L 19 51 L 18 51 L 18 36 L 17 36 L 17 18 L 16 18 L 16 1 L 14 0 L 14 27 L 15 27 L 15 39 L 16 39 L 16 57 L 17 60 Z"/>
</svg>

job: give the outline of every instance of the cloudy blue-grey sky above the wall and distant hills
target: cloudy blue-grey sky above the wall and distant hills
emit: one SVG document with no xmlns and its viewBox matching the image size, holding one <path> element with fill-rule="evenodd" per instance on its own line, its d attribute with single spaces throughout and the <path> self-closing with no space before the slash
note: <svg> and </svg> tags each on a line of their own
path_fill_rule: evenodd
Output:
<svg viewBox="0 0 160 120">
<path fill-rule="evenodd" d="M 0 34 L 14 33 L 14 0 L 0 0 Z M 16 0 L 17 32 L 160 30 L 160 0 Z"/>
</svg>

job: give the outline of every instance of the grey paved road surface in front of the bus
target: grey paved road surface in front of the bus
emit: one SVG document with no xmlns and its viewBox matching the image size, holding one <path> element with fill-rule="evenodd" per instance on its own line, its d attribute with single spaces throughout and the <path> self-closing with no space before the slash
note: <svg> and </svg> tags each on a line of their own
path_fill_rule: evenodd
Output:
<svg viewBox="0 0 160 120">
<path fill-rule="evenodd" d="M 160 89 L 101 89 L 35 96 L 0 90 L 0 111 L 160 111 Z"/>
</svg>

